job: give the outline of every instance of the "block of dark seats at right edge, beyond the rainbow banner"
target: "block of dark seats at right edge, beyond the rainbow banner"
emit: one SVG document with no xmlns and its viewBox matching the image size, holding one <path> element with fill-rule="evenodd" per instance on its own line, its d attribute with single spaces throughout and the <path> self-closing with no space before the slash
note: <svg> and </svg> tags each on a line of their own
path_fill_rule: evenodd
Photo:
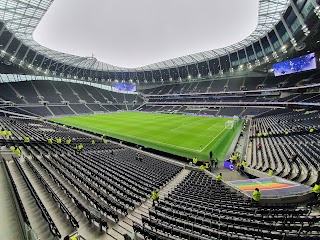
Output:
<svg viewBox="0 0 320 240">
<path fill-rule="evenodd" d="M 312 185 L 320 177 L 319 112 L 274 113 L 253 119 L 248 166 L 264 172 L 271 168 L 277 176 Z"/>
</svg>

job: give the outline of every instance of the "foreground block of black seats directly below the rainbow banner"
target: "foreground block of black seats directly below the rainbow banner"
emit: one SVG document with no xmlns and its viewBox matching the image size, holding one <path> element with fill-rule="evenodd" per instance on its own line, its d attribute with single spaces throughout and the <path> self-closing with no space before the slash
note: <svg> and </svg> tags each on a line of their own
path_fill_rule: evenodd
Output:
<svg viewBox="0 0 320 240">
<path fill-rule="evenodd" d="M 254 205 L 204 172 L 191 171 L 154 209 L 137 232 L 182 239 L 317 239 L 319 216 L 287 205 Z M 147 229 L 147 231 L 146 231 Z M 160 238 L 161 239 L 161 238 Z"/>
</svg>

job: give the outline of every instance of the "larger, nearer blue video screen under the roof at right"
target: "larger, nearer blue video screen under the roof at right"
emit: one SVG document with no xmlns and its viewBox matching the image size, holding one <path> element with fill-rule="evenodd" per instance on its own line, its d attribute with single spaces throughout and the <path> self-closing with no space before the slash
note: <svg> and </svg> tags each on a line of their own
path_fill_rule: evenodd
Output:
<svg viewBox="0 0 320 240">
<path fill-rule="evenodd" d="M 316 68 L 317 64 L 315 53 L 310 53 L 298 58 L 293 58 L 291 60 L 276 63 L 273 65 L 274 75 L 276 77 L 296 72 L 312 70 Z"/>
</svg>

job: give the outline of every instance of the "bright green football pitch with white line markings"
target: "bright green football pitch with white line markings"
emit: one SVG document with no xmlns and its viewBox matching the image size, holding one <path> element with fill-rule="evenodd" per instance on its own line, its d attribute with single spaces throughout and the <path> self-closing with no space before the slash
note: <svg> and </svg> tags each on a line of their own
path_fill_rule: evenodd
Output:
<svg viewBox="0 0 320 240">
<path fill-rule="evenodd" d="M 225 129 L 229 118 L 120 112 L 50 119 L 186 158 L 222 160 L 241 128 Z"/>
</svg>

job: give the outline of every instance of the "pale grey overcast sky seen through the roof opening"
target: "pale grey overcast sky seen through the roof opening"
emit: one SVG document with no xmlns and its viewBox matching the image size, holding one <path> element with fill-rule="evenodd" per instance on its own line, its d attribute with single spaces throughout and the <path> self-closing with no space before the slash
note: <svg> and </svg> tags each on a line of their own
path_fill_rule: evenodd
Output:
<svg viewBox="0 0 320 240">
<path fill-rule="evenodd" d="M 53 50 L 134 68 L 249 36 L 258 0 L 55 0 L 34 32 Z"/>
</svg>

